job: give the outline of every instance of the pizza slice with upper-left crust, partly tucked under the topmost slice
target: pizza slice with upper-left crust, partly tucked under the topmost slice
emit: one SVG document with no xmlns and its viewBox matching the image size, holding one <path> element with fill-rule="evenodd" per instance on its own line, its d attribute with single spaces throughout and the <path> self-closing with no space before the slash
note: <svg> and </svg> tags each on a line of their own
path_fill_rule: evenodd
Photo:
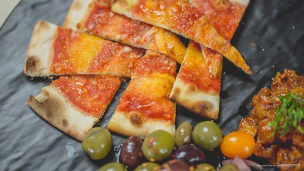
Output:
<svg viewBox="0 0 304 171">
<path fill-rule="evenodd" d="M 113 13 L 111 3 L 111 0 L 74 0 L 63 26 L 130 46 L 151 49 L 182 62 L 186 48 L 174 33 Z"/>
</svg>

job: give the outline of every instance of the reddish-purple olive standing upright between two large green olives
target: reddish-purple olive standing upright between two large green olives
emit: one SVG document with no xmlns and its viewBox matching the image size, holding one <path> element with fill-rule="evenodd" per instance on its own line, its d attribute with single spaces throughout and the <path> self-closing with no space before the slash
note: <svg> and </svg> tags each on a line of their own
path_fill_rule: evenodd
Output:
<svg viewBox="0 0 304 171">
<path fill-rule="evenodd" d="M 123 144 L 120 153 L 120 162 L 129 167 L 136 167 L 140 158 L 142 140 L 138 136 L 130 136 Z"/>
</svg>

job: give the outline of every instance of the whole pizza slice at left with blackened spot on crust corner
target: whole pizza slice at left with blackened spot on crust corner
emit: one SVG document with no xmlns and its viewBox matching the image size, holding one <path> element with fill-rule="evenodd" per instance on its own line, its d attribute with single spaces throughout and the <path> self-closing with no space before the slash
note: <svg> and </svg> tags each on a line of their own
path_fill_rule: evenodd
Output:
<svg viewBox="0 0 304 171">
<path fill-rule="evenodd" d="M 39 21 L 25 60 L 27 76 L 94 74 L 131 77 L 143 49 Z"/>
</svg>

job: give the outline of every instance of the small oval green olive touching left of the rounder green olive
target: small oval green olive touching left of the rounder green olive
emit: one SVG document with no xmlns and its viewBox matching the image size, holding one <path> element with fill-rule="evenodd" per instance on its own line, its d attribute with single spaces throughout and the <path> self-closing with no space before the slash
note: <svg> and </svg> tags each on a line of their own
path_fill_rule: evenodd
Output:
<svg viewBox="0 0 304 171">
<path fill-rule="evenodd" d="M 174 140 L 177 147 L 190 144 L 192 125 L 189 122 L 183 122 L 178 126 L 175 132 Z"/>
</svg>

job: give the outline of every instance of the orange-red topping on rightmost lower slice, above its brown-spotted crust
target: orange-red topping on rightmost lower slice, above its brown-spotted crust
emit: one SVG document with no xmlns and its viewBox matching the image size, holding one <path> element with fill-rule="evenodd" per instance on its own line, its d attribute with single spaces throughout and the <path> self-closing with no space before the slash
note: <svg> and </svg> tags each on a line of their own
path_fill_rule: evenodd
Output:
<svg viewBox="0 0 304 171">
<path fill-rule="evenodd" d="M 194 84 L 200 90 L 218 92 L 221 72 L 211 78 L 208 70 L 200 45 L 197 43 L 189 44 L 179 77 L 186 84 Z"/>
</svg>

